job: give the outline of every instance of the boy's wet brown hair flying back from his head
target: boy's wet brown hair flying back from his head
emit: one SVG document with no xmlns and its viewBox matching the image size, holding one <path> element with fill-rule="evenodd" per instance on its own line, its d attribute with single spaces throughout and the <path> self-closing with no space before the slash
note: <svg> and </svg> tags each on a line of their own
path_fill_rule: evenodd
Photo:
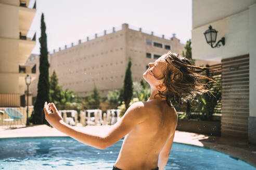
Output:
<svg viewBox="0 0 256 170">
<path fill-rule="evenodd" d="M 165 56 L 167 68 L 164 70 L 163 84 L 167 87 L 165 91 L 158 91 L 156 95 L 165 98 L 169 106 L 172 104 L 182 104 L 189 98 L 196 95 L 210 92 L 209 83 L 202 83 L 202 79 L 214 81 L 209 77 L 199 75 L 208 67 L 197 67 L 187 58 L 169 51 Z"/>
</svg>

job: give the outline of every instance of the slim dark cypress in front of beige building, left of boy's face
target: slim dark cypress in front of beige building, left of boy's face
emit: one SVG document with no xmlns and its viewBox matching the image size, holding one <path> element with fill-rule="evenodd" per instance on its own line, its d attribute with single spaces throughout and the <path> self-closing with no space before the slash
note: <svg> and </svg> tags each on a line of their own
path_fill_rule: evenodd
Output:
<svg viewBox="0 0 256 170">
<path fill-rule="evenodd" d="M 123 100 L 124 100 L 126 110 L 129 108 L 129 104 L 133 96 L 133 79 L 132 79 L 131 66 L 132 66 L 132 62 L 131 62 L 131 59 L 129 59 L 129 63 L 125 72 L 124 84 L 123 84 Z"/>
</svg>

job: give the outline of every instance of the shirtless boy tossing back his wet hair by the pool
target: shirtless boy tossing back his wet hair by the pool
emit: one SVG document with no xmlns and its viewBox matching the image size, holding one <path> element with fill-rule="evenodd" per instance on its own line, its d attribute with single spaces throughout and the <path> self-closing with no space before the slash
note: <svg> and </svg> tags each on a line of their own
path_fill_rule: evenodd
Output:
<svg viewBox="0 0 256 170">
<path fill-rule="evenodd" d="M 132 104 L 107 134 L 99 136 L 74 130 L 63 122 L 54 103 L 45 102 L 45 119 L 60 132 L 98 149 L 105 149 L 124 137 L 113 169 L 162 170 L 168 161 L 177 125 L 172 102 L 181 102 L 207 90 L 198 82 L 202 77 L 197 75 L 204 68 L 191 65 L 175 53 L 168 52 L 148 66 L 143 74 L 151 88 L 148 101 Z"/>
</svg>

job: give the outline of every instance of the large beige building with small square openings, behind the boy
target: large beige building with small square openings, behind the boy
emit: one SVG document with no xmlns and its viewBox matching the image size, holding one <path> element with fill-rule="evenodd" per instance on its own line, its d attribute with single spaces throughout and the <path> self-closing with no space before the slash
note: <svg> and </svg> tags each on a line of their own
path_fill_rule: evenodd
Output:
<svg viewBox="0 0 256 170">
<path fill-rule="evenodd" d="M 175 34 L 172 38 L 156 36 L 153 32 L 144 33 L 142 29 L 132 29 L 128 24 L 122 24 L 101 35 L 79 40 L 76 45 L 59 48 L 58 52 L 54 50 L 49 55 L 49 73 L 55 70 L 63 89 L 70 89 L 81 97 L 93 90 L 94 83 L 101 95 L 106 96 L 108 91 L 123 87 L 129 58 L 132 61 L 133 80 L 140 81 L 147 64 L 169 50 L 180 54 L 184 50 L 184 44 Z M 36 56 L 31 56 L 28 61 L 30 64 L 38 62 Z M 36 86 L 31 86 L 33 96 L 36 95 Z"/>
</svg>

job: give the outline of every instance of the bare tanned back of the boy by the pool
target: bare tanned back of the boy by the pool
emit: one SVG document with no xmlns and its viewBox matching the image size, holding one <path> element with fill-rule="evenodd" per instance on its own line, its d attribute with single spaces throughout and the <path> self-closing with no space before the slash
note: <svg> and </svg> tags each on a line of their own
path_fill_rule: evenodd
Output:
<svg viewBox="0 0 256 170">
<path fill-rule="evenodd" d="M 144 121 L 125 135 L 115 163 L 120 169 L 156 168 L 159 153 L 175 133 L 177 114 L 174 107 L 164 100 L 137 102 L 137 105 L 142 108 L 137 114 L 144 117 Z"/>
</svg>

